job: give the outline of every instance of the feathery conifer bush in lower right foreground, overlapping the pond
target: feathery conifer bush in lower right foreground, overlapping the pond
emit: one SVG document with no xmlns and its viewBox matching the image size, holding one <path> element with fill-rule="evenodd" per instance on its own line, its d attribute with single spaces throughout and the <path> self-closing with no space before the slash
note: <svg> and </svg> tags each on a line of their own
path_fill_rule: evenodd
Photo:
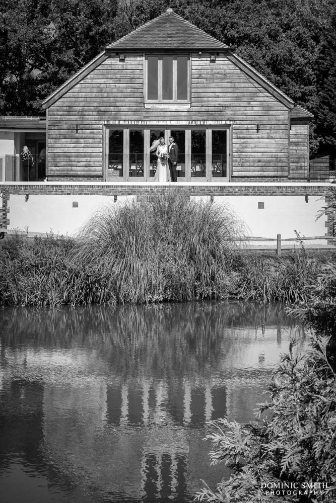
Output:
<svg viewBox="0 0 336 503">
<path fill-rule="evenodd" d="M 205 487 L 197 501 L 335 501 L 336 376 L 326 356 L 328 342 L 314 336 L 305 356 L 298 356 L 296 343 L 291 342 L 268 388 L 270 402 L 260 404 L 259 413 L 271 412 L 270 420 L 248 425 L 226 419 L 211 423 L 215 433 L 207 439 L 214 446 L 212 463 L 224 461 L 233 473 L 216 491 Z M 312 482 L 328 487 L 322 494 L 314 493 L 321 487 L 309 493 L 302 484 Z M 268 489 L 267 493 L 262 484 L 274 484 L 285 492 L 277 495 L 275 489 L 271 494 Z M 290 484 L 291 493 L 284 484 Z"/>
</svg>

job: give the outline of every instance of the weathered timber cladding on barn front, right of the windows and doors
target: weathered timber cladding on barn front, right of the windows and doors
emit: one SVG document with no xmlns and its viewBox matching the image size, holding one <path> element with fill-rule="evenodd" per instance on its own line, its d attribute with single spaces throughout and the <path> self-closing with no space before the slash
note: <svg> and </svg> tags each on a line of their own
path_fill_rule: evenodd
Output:
<svg viewBox="0 0 336 503">
<path fill-rule="evenodd" d="M 192 67 L 193 109 L 233 123 L 233 177 L 287 176 L 288 109 L 224 57 L 195 57 Z"/>
</svg>

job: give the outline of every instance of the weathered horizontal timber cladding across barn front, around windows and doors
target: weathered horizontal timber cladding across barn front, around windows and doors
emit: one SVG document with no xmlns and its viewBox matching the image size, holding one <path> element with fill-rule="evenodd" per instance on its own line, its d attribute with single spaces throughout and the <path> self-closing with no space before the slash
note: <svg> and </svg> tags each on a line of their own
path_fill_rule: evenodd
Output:
<svg viewBox="0 0 336 503">
<path fill-rule="evenodd" d="M 191 106 L 144 108 L 143 54 L 111 56 L 48 109 L 48 174 L 101 176 L 104 121 L 232 122 L 232 175 L 288 175 L 288 108 L 224 54 L 191 58 Z M 260 130 L 257 132 L 256 124 Z M 77 129 L 76 129 L 76 125 Z"/>
</svg>

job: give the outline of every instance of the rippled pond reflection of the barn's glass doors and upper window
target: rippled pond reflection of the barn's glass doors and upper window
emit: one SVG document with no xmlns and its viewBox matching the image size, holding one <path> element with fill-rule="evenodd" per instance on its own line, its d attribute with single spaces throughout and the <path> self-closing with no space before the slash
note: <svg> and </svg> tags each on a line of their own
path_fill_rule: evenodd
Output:
<svg viewBox="0 0 336 503">
<path fill-rule="evenodd" d="M 154 384 L 108 385 L 106 420 L 111 425 L 137 428 L 155 425 L 143 442 L 141 459 L 141 494 L 147 498 L 161 493 L 183 494 L 187 491 L 191 472 L 189 434 L 185 428 L 173 433 L 175 425 L 203 428 L 206 421 L 226 415 L 225 387 L 212 388 L 209 383 L 188 381 Z M 189 473 L 189 476 L 188 476 Z"/>
</svg>

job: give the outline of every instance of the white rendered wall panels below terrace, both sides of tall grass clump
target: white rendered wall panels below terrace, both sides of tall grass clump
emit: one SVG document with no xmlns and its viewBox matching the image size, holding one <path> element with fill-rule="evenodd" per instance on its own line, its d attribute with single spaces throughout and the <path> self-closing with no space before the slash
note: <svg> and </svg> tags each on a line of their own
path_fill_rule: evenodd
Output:
<svg viewBox="0 0 336 503">
<path fill-rule="evenodd" d="M 210 200 L 211 196 L 195 196 L 196 200 Z M 8 231 L 15 229 L 30 233 L 76 235 L 90 215 L 105 205 L 116 207 L 126 201 L 136 200 L 135 195 L 36 195 L 25 193 L 10 195 L 8 202 Z M 74 207 L 73 203 L 78 203 Z M 264 208 L 258 208 L 263 203 Z M 324 205 L 319 196 L 214 196 L 214 204 L 219 211 L 234 211 L 246 225 L 246 235 L 254 237 L 283 239 L 294 238 L 295 230 L 300 235 L 313 237 L 324 236 L 326 218 L 316 221 L 318 210 Z"/>
</svg>

